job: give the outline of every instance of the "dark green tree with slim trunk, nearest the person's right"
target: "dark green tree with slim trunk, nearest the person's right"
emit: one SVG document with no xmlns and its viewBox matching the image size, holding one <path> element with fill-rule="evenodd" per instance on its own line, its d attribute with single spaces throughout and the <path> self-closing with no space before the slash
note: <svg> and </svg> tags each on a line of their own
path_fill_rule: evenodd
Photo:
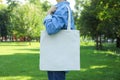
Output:
<svg viewBox="0 0 120 80">
<path fill-rule="evenodd" d="M 92 1 L 88 2 L 89 0 L 86 1 L 79 0 L 79 1 L 81 2 L 81 6 L 83 7 L 83 10 L 81 11 L 79 18 L 77 19 L 77 23 L 80 23 L 78 27 L 81 30 L 82 35 L 91 36 L 96 41 L 96 48 L 101 49 L 102 32 L 99 29 L 99 25 L 98 25 L 100 23 L 100 20 L 99 18 L 96 17 L 98 13 L 98 11 L 96 11 L 97 2 L 94 0 L 92 0 L 93 2 Z M 78 9 L 80 9 L 80 7 L 77 8 L 77 10 Z"/>
</svg>

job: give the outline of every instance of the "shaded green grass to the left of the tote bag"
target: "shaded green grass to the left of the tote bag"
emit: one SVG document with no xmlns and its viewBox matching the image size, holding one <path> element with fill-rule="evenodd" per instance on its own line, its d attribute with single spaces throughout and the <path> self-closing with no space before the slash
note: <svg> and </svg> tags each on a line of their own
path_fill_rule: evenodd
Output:
<svg viewBox="0 0 120 80">
<path fill-rule="evenodd" d="M 0 56 L 0 63 L 0 77 L 27 76 L 30 80 L 47 80 L 46 72 L 39 70 L 39 54 L 4 55 Z"/>
</svg>

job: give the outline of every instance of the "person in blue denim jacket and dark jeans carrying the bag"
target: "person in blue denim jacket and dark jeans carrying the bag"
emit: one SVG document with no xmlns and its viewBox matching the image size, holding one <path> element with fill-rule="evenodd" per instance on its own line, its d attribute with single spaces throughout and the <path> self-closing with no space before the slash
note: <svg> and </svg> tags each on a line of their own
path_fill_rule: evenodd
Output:
<svg viewBox="0 0 120 80">
<path fill-rule="evenodd" d="M 56 0 L 57 4 L 52 6 L 44 19 L 44 25 L 49 35 L 56 34 L 60 30 L 67 29 L 68 24 L 68 8 L 69 2 L 67 0 Z M 70 6 L 69 6 L 70 8 Z M 71 29 L 75 29 L 74 19 L 71 13 Z M 48 80 L 65 80 L 67 71 L 47 71 Z"/>
</svg>

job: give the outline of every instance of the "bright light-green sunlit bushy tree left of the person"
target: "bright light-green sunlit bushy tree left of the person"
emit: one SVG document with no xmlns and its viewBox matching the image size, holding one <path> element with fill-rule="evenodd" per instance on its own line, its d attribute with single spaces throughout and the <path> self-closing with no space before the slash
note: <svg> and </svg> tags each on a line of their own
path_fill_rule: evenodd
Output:
<svg viewBox="0 0 120 80">
<path fill-rule="evenodd" d="M 40 2 L 39 2 L 40 4 Z M 14 7 L 10 15 L 9 29 L 16 37 L 39 38 L 43 27 L 44 11 L 41 5 L 26 3 Z"/>
</svg>

